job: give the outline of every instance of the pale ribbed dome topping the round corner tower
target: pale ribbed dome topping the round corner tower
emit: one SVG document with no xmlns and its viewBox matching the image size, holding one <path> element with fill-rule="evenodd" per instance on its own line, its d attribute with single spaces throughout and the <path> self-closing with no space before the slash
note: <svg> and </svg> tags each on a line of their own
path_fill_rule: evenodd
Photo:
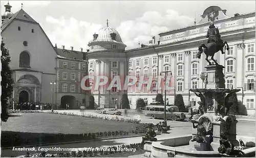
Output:
<svg viewBox="0 0 256 158">
<path fill-rule="evenodd" d="M 113 39 L 112 34 L 115 34 L 115 38 Z M 96 37 L 89 42 L 89 45 L 94 42 L 114 42 L 114 43 L 122 43 L 122 39 L 119 33 L 111 28 L 111 27 L 103 27 L 99 29 L 98 34 L 94 34 Z"/>
</svg>

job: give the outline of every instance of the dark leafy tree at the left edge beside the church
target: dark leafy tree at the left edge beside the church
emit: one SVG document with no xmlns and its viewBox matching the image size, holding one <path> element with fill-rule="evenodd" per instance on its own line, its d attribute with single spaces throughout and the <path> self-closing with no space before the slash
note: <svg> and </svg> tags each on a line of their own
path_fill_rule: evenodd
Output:
<svg viewBox="0 0 256 158">
<path fill-rule="evenodd" d="M 9 67 L 9 64 L 11 62 L 11 57 L 9 54 L 9 51 L 5 48 L 5 44 L 2 40 L 1 43 L 1 87 L 2 87 L 2 94 L 1 94 L 1 107 L 2 107 L 2 113 L 1 113 L 1 120 L 6 122 L 8 120 L 9 114 L 8 114 L 8 107 L 9 107 L 9 101 L 13 92 L 13 80 L 12 80 L 12 72 Z"/>
</svg>

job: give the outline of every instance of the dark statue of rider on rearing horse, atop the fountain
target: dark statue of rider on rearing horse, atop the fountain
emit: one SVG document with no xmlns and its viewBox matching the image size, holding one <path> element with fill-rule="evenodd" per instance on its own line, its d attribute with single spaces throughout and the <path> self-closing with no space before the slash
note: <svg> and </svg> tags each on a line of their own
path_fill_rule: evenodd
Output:
<svg viewBox="0 0 256 158">
<path fill-rule="evenodd" d="M 223 40 L 220 38 L 221 35 L 219 33 L 219 29 L 215 28 L 214 23 L 211 23 L 208 29 L 208 32 L 206 34 L 206 38 L 208 38 L 208 41 L 206 44 L 201 44 L 198 47 L 198 55 L 197 57 L 200 59 L 201 54 L 204 52 L 206 55 L 205 60 L 209 63 L 209 65 L 212 65 L 211 62 L 208 60 L 208 57 L 211 57 L 211 60 L 215 62 L 216 65 L 219 65 L 217 61 L 214 59 L 214 55 L 216 52 L 220 51 L 222 54 L 225 54 L 225 49 L 229 50 L 229 46 L 226 41 L 223 42 Z M 223 48 L 225 47 L 224 51 Z"/>
</svg>

